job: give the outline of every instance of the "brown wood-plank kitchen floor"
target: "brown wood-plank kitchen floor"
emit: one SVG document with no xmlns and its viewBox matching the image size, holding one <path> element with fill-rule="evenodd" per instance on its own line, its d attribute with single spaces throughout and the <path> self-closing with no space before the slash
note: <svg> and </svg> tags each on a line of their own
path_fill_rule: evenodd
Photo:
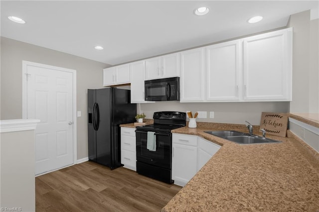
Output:
<svg viewBox="0 0 319 212">
<path fill-rule="evenodd" d="M 36 212 L 159 212 L 181 189 L 84 162 L 35 178 Z"/>
</svg>

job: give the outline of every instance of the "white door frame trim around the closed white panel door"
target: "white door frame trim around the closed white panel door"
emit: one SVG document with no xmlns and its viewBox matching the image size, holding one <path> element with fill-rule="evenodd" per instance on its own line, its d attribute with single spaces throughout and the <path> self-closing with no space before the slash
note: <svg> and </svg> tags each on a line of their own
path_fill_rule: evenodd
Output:
<svg viewBox="0 0 319 212">
<path fill-rule="evenodd" d="M 73 109 L 73 114 L 72 114 L 72 119 L 73 119 L 73 164 L 72 165 L 77 164 L 76 70 L 22 60 L 22 118 L 25 118 L 25 119 L 27 118 L 27 68 L 28 68 L 28 66 L 35 66 L 35 67 L 41 67 L 41 68 L 45 68 L 45 69 L 52 69 L 52 70 L 58 70 L 58 71 L 72 73 L 72 76 L 73 76 L 73 88 L 72 88 L 72 90 L 73 90 L 73 93 L 72 93 L 72 96 L 73 96 L 73 100 L 72 100 L 72 105 L 73 105 L 73 108 L 72 108 Z M 60 168 L 63 168 L 63 167 L 60 167 Z M 54 171 L 54 170 L 52 170 L 52 171 Z M 45 173 L 43 173 L 43 174 L 45 174 Z"/>
</svg>

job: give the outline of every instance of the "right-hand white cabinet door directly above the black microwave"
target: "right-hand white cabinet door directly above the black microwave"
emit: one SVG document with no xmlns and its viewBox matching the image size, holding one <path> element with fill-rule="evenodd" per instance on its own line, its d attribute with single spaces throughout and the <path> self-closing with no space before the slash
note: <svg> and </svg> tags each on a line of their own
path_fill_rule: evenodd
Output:
<svg viewBox="0 0 319 212">
<path fill-rule="evenodd" d="M 162 78 L 179 77 L 180 54 L 168 54 L 162 56 L 161 74 Z"/>
</svg>

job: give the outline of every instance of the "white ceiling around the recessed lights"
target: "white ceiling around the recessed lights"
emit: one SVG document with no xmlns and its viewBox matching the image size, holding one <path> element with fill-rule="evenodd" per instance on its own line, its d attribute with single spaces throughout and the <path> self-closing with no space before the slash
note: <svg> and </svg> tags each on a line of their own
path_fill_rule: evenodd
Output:
<svg viewBox="0 0 319 212">
<path fill-rule="evenodd" d="M 194 15 L 203 5 L 210 12 Z M 116 65 L 283 27 L 291 14 L 318 12 L 319 1 L 1 0 L 0 6 L 1 36 Z M 248 24 L 255 15 L 264 19 Z"/>
</svg>

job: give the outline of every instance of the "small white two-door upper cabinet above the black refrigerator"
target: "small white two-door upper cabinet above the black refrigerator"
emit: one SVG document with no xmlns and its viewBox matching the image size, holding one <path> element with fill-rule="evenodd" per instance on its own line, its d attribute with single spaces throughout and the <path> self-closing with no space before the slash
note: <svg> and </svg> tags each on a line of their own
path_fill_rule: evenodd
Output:
<svg viewBox="0 0 319 212">
<path fill-rule="evenodd" d="M 130 83 L 130 65 L 124 64 L 103 69 L 103 86 Z"/>
</svg>

